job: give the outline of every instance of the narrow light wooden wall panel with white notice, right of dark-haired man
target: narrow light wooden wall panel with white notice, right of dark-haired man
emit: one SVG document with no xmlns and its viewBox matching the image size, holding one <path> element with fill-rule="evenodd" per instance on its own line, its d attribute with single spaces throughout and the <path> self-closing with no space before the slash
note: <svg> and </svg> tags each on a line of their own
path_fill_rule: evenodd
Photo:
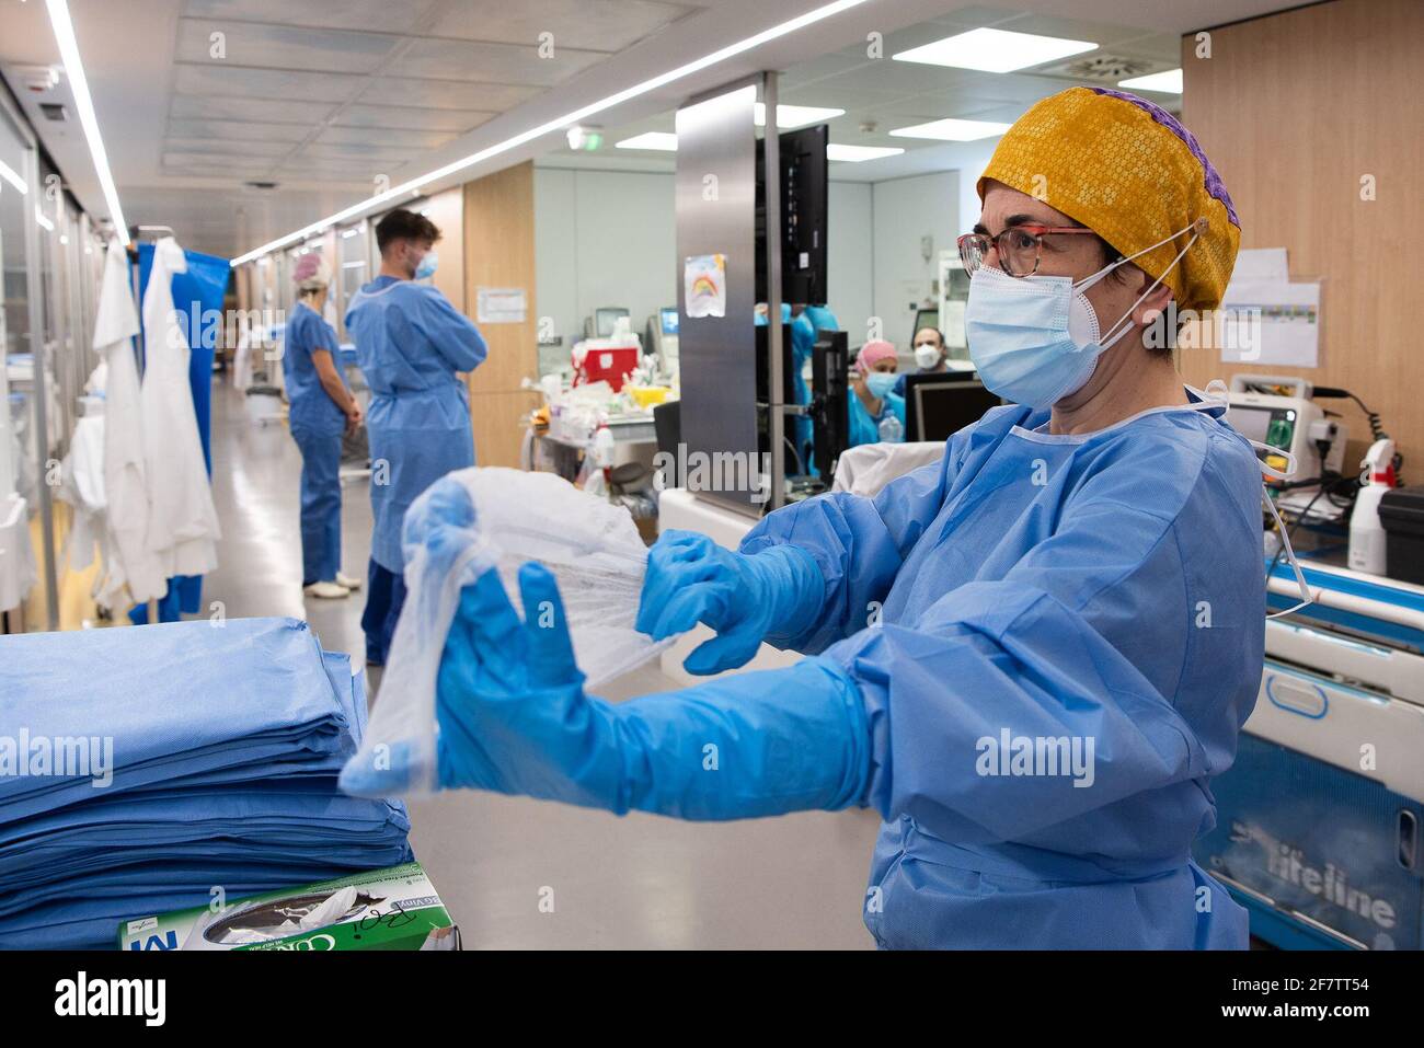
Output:
<svg viewBox="0 0 1424 1048">
<path fill-rule="evenodd" d="M 528 309 L 523 323 L 480 323 L 480 288 L 523 288 Z M 490 356 L 468 376 L 476 460 L 481 466 L 517 466 L 520 419 L 537 397 L 521 389 L 537 377 L 534 302 L 534 165 L 506 168 L 464 185 L 466 315 L 480 326 Z"/>
</svg>

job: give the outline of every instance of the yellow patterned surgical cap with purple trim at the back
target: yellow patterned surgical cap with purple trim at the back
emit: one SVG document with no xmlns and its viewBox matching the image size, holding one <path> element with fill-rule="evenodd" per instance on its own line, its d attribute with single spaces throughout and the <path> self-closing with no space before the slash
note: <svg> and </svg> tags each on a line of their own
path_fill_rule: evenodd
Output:
<svg viewBox="0 0 1424 1048">
<path fill-rule="evenodd" d="M 1240 222 L 1196 138 L 1159 105 L 1108 88 L 1059 91 L 1000 138 L 978 181 L 981 201 L 990 178 L 1082 222 L 1124 255 L 1206 218 L 1206 232 L 1162 282 L 1179 309 L 1220 305 Z M 1189 236 L 1134 263 L 1159 278 Z"/>
</svg>

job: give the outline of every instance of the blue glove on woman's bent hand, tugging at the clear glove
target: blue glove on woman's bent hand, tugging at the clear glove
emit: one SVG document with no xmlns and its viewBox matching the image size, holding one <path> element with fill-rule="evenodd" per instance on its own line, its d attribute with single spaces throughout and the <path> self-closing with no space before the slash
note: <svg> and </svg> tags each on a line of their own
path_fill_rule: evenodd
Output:
<svg viewBox="0 0 1424 1048">
<path fill-rule="evenodd" d="M 705 622 L 716 631 L 682 662 L 689 674 L 746 665 L 775 627 L 795 636 L 826 595 L 816 561 L 795 545 L 725 550 L 698 531 L 664 531 L 648 551 L 635 627 L 655 641 Z"/>
</svg>

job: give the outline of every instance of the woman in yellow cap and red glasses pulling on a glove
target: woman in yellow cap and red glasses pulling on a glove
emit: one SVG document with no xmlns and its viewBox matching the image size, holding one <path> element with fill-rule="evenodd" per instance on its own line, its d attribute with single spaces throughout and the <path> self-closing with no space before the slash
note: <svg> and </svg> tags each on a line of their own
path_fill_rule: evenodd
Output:
<svg viewBox="0 0 1424 1048">
<path fill-rule="evenodd" d="M 1236 212 L 1176 118 L 1102 88 L 1034 105 L 978 191 L 968 343 L 1012 403 L 874 498 L 778 510 L 738 552 L 652 548 L 639 628 L 718 634 L 688 669 L 809 658 L 608 703 L 550 572 L 520 572 L 554 611 L 528 621 L 487 572 L 446 641 L 440 783 L 682 819 L 873 806 L 883 947 L 1242 948 L 1190 847 L 1260 685 L 1262 474 L 1148 337 L 1172 300 L 1219 303 Z"/>
</svg>

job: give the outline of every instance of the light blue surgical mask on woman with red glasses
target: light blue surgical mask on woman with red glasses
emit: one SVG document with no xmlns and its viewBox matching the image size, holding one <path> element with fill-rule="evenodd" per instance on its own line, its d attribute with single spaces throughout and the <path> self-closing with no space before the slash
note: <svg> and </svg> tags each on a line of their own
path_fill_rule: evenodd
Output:
<svg viewBox="0 0 1424 1048">
<path fill-rule="evenodd" d="M 1106 337 L 1098 328 L 1098 313 L 1084 293 L 1121 265 L 1169 243 L 1196 224 L 1180 229 L 1151 248 L 1121 258 L 1077 283 L 1067 276 L 1010 276 L 988 266 L 970 281 L 964 312 L 970 357 L 980 380 L 991 393 L 1025 407 L 1051 407 L 1088 384 L 1098 357 L 1132 330 L 1132 310 L 1172 271 L 1198 238 L 1178 252 L 1172 263 L 1138 296 Z M 1126 322 L 1126 323 L 1124 323 Z"/>
</svg>

